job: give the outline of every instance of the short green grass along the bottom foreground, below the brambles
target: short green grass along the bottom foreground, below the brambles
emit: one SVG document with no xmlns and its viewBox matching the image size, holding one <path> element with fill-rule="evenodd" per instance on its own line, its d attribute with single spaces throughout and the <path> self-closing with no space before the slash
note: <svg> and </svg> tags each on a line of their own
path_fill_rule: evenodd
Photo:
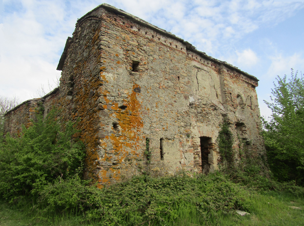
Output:
<svg viewBox="0 0 304 226">
<path fill-rule="evenodd" d="M 179 226 L 195 225 L 242 225 L 242 226 L 301 226 L 304 225 L 304 200 L 290 194 L 267 192 L 264 194 L 251 194 L 252 206 L 250 215 L 239 216 L 236 213 L 224 214 L 221 211 L 211 215 L 210 218 L 202 218 L 202 214 L 197 212 L 194 204 L 183 203 L 172 210 L 176 214 L 176 219 L 165 219 L 170 222 L 166 224 Z M 294 209 L 292 207 L 300 207 Z M 0 225 L 1 226 L 29 226 L 29 225 L 58 225 L 58 226 L 89 226 L 95 225 L 96 222 L 85 221 L 83 216 L 76 216 L 71 213 L 62 213 L 45 218 L 41 213 L 35 212 L 36 215 L 28 213 L 29 209 L 18 209 L 5 203 L 0 205 Z M 40 216 L 39 216 L 40 215 Z M 126 219 L 128 220 L 128 218 Z M 143 225 L 155 225 L 153 222 L 145 222 Z"/>
</svg>

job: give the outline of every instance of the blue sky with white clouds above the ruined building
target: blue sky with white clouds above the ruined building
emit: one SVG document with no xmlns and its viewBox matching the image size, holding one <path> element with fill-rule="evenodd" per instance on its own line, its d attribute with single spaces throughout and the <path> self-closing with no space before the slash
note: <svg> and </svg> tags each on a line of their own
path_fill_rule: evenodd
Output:
<svg viewBox="0 0 304 226">
<path fill-rule="evenodd" d="M 288 0 L 0 0 L 0 95 L 20 101 L 55 88 L 77 19 L 102 3 L 133 14 L 259 79 L 271 115 L 276 76 L 304 73 L 304 2 Z M 40 91 L 39 91 L 40 90 Z"/>
</svg>

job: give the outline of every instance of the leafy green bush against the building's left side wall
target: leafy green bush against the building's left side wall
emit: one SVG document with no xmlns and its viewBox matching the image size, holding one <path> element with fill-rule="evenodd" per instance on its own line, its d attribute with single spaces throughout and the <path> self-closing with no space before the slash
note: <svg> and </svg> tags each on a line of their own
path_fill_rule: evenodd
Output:
<svg viewBox="0 0 304 226">
<path fill-rule="evenodd" d="M 19 137 L 7 134 L 0 143 L 0 195 L 38 197 L 44 186 L 81 175 L 85 153 L 83 144 L 72 139 L 75 132 L 73 123 L 60 124 L 51 110 L 45 118 L 38 114 Z"/>
</svg>

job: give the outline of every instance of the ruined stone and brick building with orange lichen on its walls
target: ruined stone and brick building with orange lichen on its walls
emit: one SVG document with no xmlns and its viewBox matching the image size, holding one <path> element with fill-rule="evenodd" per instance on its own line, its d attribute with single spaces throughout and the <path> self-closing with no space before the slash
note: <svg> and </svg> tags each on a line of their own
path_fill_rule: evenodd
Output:
<svg viewBox="0 0 304 226">
<path fill-rule="evenodd" d="M 85 176 L 100 185 L 217 170 L 224 121 L 235 161 L 242 145 L 252 158 L 264 151 L 257 78 L 110 5 L 77 21 L 57 70 L 60 86 L 9 111 L 6 132 L 30 125 L 39 102 L 44 114 L 56 106 L 64 120 L 80 120 Z"/>
</svg>

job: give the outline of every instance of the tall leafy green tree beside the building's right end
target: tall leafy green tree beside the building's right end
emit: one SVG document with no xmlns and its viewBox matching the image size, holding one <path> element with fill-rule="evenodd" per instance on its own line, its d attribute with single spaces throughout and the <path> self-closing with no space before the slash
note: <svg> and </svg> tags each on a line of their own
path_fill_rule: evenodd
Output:
<svg viewBox="0 0 304 226">
<path fill-rule="evenodd" d="M 276 84 L 277 83 L 277 84 Z M 276 78 L 270 121 L 263 120 L 265 146 L 270 169 L 279 181 L 304 184 L 304 75 L 294 73 L 287 80 Z"/>
</svg>

